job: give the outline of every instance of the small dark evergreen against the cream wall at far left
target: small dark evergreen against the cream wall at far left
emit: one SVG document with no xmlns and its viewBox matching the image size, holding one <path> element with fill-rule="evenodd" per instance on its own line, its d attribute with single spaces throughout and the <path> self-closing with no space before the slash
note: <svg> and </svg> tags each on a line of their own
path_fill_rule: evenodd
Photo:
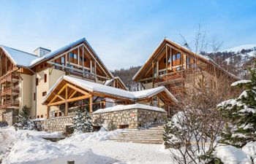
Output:
<svg viewBox="0 0 256 164">
<path fill-rule="evenodd" d="M 29 119 L 30 111 L 27 106 L 23 106 L 21 111 L 18 114 L 18 121 L 15 123 L 15 128 L 22 129 L 22 130 L 34 130 L 35 125 L 34 122 Z"/>
</svg>

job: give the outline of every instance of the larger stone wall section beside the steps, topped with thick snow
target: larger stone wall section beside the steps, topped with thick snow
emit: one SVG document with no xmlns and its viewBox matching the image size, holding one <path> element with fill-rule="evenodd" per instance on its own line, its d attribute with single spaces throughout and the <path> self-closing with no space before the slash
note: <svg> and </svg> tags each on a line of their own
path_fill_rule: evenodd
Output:
<svg viewBox="0 0 256 164">
<path fill-rule="evenodd" d="M 117 128 L 140 128 L 150 122 L 163 122 L 167 112 L 149 109 L 126 109 L 115 112 L 92 114 L 92 122 L 96 126 L 111 123 Z"/>
</svg>

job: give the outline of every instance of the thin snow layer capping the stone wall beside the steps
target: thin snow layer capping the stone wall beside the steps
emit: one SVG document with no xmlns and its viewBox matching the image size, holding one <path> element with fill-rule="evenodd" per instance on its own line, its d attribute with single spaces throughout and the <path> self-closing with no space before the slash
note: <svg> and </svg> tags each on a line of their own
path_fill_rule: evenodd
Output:
<svg viewBox="0 0 256 164">
<path fill-rule="evenodd" d="M 166 112 L 165 109 L 162 109 L 156 106 L 148 106 L 144 104 L 131 104 L 131 105 L 117 105 L 117 106 L 108 107 L 105 109 L 98 109 L 92 114 L 116 112 L 116 111 L 123 111 L 123 110 L 129 110 L 129 109 L 147 109 L 147 110 L 158 111 L 158 112 Z"/>
</svg>

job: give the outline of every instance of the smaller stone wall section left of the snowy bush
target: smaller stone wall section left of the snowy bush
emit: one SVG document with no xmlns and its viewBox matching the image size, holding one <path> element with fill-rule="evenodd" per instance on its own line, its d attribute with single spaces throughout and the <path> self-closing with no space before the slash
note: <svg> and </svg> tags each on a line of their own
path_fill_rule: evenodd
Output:
<svg viewBox="0 0 256 164">
<path fill-rule="evenodd" d="M 38 130 L 44 131 L 67 131 L 67 126 L 72 125 L 73 116 L 67 117 L 53 117 L 45 120 L 36 120 L 34 121 L 37 125 Z"/>
</svg>

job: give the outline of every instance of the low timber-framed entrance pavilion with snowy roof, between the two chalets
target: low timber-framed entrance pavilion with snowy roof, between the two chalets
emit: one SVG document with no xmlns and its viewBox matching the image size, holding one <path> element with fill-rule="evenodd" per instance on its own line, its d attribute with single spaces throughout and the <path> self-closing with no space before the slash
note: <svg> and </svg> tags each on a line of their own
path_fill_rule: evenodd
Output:
<svg viewBox="0 0 256 164">
<path fill-rule="evenodd" d="M 177 102 L 165 87 L 129 92 L 70 76 L 61 77 L 43 100 L 43 104 L 48 106 L 48 117 L 72 115 L 75 109 L 81 106 L 92 113 L 97 109 L 120 104 L 146 104 L 161 107 L 167 111 L 168 107 Z M 54 106 L 59 106 L 59 113 L 52 110 Z"/>
</svg>

